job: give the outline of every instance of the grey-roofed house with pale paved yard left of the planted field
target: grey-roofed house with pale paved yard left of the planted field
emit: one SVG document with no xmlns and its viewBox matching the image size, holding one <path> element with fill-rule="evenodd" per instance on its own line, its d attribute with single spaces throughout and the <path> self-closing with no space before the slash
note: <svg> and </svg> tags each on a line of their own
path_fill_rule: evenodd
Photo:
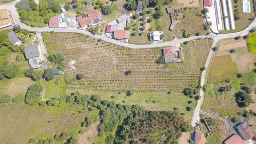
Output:
<svg viewBox="0 0 256 144">
<path fill-rule="evenodd" d="M 47 62 L 47 60 L 45 54 L 41 51 L 40 46 L 38 44 L 25 47 L 24 53 L 26 59 L 28 60 L 29 65 L 33 69 L 47 67 L 41 64 L 42 62 Z"/>
</svg>

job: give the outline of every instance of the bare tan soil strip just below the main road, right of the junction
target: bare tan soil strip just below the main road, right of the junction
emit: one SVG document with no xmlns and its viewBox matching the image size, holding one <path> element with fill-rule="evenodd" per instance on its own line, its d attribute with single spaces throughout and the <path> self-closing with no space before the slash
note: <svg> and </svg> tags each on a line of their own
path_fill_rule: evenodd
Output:
<svg viewBox="0 0 256 144">
<path fill-rule="evenodd" d="M 244 39 L 227 40 L 227 41 L 223 41 L 220 43 L 219 52 L 236 49 L 236 48 L 241 48 L 241 47 L 247 47 L 246 40 L 244 40 Z"/>
</svg>

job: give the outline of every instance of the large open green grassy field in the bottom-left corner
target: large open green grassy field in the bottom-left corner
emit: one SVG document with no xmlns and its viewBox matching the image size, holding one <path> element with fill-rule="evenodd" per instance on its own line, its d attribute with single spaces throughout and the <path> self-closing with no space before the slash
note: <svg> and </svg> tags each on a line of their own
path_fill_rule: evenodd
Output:
<svg viewBox="0 0 256 144">
<path fill-rule="evenodd" d="M 91 115 L 88 111 L 78 113 L 81 109 L 82 106 L 73 108 L 65 101 L 59 107 L 45 108 L 9 103 L 0 107 L 0 142 L 28 144 L 29 139 L 53 139 L 62 132 L 78 134 L 81 121 Z"/>
</svg>

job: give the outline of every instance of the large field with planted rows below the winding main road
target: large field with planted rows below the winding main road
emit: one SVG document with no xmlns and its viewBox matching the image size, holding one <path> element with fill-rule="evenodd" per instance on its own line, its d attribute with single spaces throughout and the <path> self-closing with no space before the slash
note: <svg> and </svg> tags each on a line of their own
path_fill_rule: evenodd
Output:
<svg viewBox="0 0 256 144">
<path fill-rule="evenodd" d="M 77 70 L 66 72 L 70 77 L 83 73 L 85 78 L 71 87 L 87 90 L 125 92 L 182 91 L 197 87 L 200 68 L 204 66 L 212 40 L 195 40 L 182 46 L 183 63 L 158 65 L 161 48 L 129 49 L 76 33 L 43 33 L 48 53 L 61 53 L 68 65 L 75 59 Z M 125 72 L 131 70 L 130 75 Z"/>
</svg>

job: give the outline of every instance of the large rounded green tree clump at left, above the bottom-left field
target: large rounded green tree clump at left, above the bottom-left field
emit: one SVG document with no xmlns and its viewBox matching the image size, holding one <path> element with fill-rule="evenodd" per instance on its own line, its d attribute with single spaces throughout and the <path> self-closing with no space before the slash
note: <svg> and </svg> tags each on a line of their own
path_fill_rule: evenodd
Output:
<svg viewBox="0 0 256 144">
<path fill-rule="evenodd" d="M 43 88 L 38 83 L 29 86 L 25 96 L 25 102 L 32 106 L 37 104 L 41 99 L 40 93 L 42 90 Z"/>
</svg>

